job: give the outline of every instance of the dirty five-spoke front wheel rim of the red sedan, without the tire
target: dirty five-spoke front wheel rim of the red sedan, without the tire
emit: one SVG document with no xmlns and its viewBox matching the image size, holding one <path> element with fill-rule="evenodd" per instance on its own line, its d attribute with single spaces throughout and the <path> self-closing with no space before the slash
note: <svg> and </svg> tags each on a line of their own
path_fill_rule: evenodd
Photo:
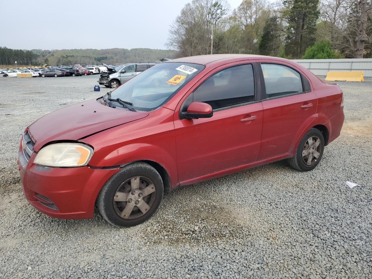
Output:
<svg viewBox="0 0 372 279">
<path fill-rule="evenodd" d="M 134 176 L 122 183 L 113 198 L 115 212 L 124 219 L 146 214 L 155 200 L 155 186 L 144 176 Z"/>
</svg>

